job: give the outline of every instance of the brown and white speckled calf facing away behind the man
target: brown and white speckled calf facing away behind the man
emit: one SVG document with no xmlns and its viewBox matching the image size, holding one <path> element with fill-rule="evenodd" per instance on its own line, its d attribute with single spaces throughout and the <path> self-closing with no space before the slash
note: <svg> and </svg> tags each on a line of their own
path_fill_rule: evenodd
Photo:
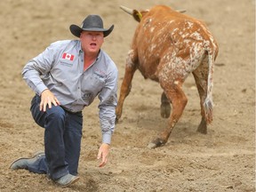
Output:
<svg viewBox="0 0 256 192">
<path fill-rule="evenodd" d="M 218 44 L 204 23 L 165 5 L 147 11 L 121 6 L 139 22 L 126 60 L 124 80 L 116 107 L 116 121 L 122 116 L 124 99 L 132 87 L 132 76 L 139 69 L 142 76 L 159 82 L 162 94 L 161 115 L 169 117 L 164 131 L 149 148 L 164 145 L 188 102 L 182 84 L 193 74 L 200 96 L 202 120 L 197 131 L 207 133 L 212 122 L 212 73 Z M 172 112 L 170 102 L 172 103 Z"/>
</svg>

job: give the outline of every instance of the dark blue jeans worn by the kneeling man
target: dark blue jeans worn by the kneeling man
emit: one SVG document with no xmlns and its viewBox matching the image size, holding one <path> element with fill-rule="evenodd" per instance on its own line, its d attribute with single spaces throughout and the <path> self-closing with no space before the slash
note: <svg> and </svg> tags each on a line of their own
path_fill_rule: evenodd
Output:
<svg viewBox="0 0 256 192">
<path fill-rule="evenodd" d="M 52 180 L 70 173 L 77 175 L 83 128 L 82 112 L 70 113 L 52 105 L 39 110 L 41 98 L 31 101 L 31 114 L 36 124 L 44 128 L 45 156 L 28 167 L 30 172 L 46 173 Z"/>
</svg>

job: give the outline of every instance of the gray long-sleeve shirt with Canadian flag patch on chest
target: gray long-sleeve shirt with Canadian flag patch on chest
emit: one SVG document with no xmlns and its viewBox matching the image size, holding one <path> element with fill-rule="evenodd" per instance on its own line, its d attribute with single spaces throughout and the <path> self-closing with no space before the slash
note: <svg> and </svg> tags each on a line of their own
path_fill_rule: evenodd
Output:
<svg viewBox="0 0 256 192">
<path fill-rule="evenodd" d="M 102 142 L 110 143 L 116 120 L 118 71 L 106 52 L 100 50 L 92 66 L 84 71 L 80 41 L 58 41 L 29 60 L 22 76 L 36 94 L 49 89 L 70 112 L 82 111 L 98 95 Z"/>
</svg>

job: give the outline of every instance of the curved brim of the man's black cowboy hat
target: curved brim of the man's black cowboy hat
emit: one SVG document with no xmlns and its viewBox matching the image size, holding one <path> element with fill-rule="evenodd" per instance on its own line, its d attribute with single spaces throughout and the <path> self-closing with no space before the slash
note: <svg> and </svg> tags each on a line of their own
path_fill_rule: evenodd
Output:
<svg viewBox="0 0 256 192">
<path fill-rule="evenodd" d="M 106 28 L 80 28 L 79 26 L 74 25 L 74 24 L 70 25 L 70 27 L 69 27 L 70 32 L 74 36 L 77 36 L 77 37 L 80 37 L 82 31 L 102 31 L 104 37 L 106 37 L 106 36 L 108 36 L 112 32 L 113 28 L 114 28 L 114 25 L 112 25 L 108 29 L 106 29 Z"/>
</svg>

